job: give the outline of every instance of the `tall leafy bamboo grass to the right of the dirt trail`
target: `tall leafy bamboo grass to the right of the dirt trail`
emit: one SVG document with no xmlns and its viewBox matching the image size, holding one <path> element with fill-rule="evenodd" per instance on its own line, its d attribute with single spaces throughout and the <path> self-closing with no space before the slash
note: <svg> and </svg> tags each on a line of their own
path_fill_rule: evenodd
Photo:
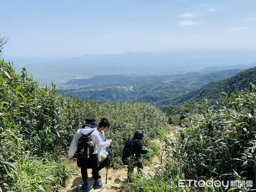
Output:
<svg viewBox="0 0 256 192">
<path fill-rule="evenodd" d="M 200 114 L 187 114 L 186 126 L 164 141 L 163 158 L 155 175 L 134 176 L 122 191 L 250 191 L 236 186 L 178 187 L 178 180 L 252 180 L 256 189 L 256 87 L 250 92 L 222 93 L 216 105 L 207 100 L 196 107 Z"/>
</svg>

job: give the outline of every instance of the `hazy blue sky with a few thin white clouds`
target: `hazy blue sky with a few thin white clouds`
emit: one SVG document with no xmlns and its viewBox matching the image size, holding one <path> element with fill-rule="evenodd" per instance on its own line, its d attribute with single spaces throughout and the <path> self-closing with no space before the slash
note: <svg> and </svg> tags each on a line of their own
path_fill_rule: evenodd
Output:
<svg viewBox="0 0 256 192">
<path fill-rule="evenodd" d="M 3 0 L 3 57 L 256 49 L 256 0 Z"/>
</svg>

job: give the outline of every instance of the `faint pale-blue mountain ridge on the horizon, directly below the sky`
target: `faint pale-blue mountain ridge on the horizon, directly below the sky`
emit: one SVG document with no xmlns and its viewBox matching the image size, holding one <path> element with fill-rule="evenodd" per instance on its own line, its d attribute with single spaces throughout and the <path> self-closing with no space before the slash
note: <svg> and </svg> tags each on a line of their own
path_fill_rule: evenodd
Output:
<svg viewBox="0 0 256 192">
<path fill-rule="evenodd" d="M 236 65 L 256 61 L 254 50 L 186 50 L 158 52 L 124 52 L 105 55 L 82 55 L 70 58 L 70 61 L 114 62 L 118 64 L 158 64 L 163 67 L 176 67 L 179 64 L 189 67 L 210 67 L 219 65 Z"/>
</svg>

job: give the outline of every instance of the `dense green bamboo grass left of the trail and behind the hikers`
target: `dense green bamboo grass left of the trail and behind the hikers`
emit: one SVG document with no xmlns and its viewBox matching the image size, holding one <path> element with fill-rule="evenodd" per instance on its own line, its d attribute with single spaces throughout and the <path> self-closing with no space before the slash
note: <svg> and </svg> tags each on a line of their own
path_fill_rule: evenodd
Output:
<svg viewBox="0 0 256 192">
<path fill-rule="evenodd" d="M 67 150 L 88 116 L 106 117 L 113 140 L 111 166 L 122 166 L 121 151 L 128 135 L 143 130 L 143 145 L 157 153 L 152 140 L 161 135 L 166 116 L 151 104 L 102 103 L 65 97 L 52 87 L 41 87 L 26 73 L 15 73 L 0 61 L 0 191 L 56 191 L 73 172 Z"/>
</svg>

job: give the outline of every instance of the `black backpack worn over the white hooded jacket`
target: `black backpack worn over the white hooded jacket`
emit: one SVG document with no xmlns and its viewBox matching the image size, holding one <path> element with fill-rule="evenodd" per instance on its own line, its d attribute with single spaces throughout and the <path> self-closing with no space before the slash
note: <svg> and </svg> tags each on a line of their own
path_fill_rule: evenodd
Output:
<svg viewBox="0 0 256 192">
<path fill-rule="evenodd" d="M 95 131 L 95 130 L 93 130 Z M 93 157 L 93 151 L 95 144 L 93 146 L 92 139 L 90 134 L 93 132 L 91 131 L 89 134 L 82 134 L 82 136 L 78 140 L 77 145 L 77 157 L 79 158 L 90 158 Z"/>
</svg>

